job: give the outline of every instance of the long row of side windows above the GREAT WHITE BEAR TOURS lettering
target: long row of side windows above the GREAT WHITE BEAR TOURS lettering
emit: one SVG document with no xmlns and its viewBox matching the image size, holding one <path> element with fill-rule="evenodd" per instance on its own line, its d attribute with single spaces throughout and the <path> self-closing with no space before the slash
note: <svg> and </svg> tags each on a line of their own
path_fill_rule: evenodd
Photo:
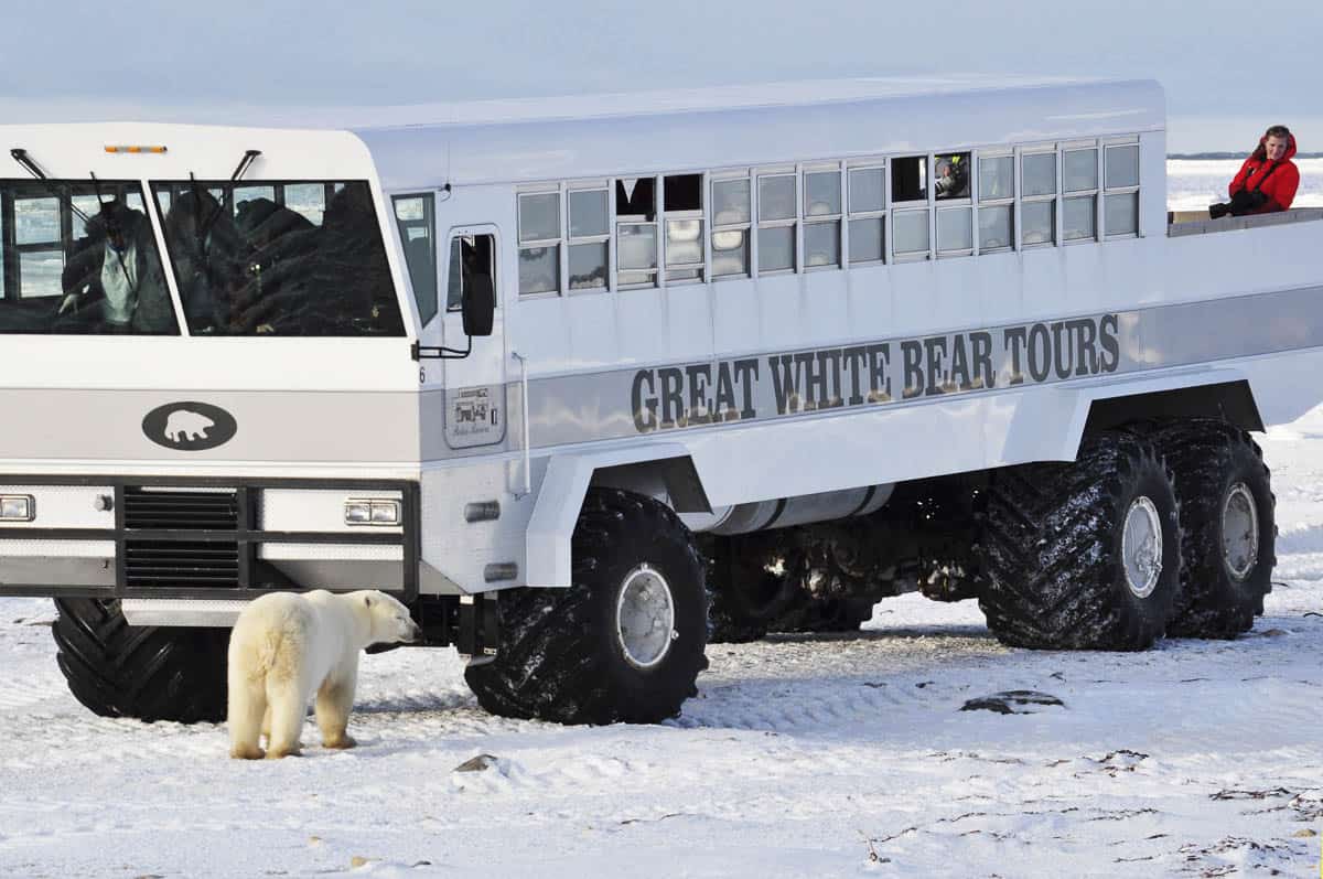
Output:
<svg viewBox="0 0 1323 879">
<path fill-rule="evenodd" d="M 1138 138 L 517 192 L 519 293 L 630 290 L 1139 234 Z"/>
</svg>

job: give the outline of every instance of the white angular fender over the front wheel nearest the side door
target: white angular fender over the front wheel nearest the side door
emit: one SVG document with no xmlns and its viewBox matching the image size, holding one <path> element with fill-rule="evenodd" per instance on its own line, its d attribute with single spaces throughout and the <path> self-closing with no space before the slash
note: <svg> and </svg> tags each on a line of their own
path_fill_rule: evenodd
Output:
<svg viewBox="0 0 1323 879">
<path fill-rule="evenodd" d="M 593 474 L 607 467 L 688 458 L 679 442 L 650 442 L 624 449 L 553 455 L 537 491 L 528 522 L 524 548 L 529 586 L 568 588 L 570 585 L 570 537 L 578 522 L 583 496 Z"/>
</svg>

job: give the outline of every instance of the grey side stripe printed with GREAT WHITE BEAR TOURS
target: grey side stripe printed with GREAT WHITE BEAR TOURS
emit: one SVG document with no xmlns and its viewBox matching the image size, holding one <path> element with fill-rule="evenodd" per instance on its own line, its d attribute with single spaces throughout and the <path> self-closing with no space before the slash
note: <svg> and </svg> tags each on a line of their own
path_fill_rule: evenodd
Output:
<svg viewBox="0 0 1323 879">
<path fill-rule="evenodd" d="M 529 383 L 531 445 L 905 405 L 1319 346 L 1323 287 L 1311 286 L 987 330 L 534 379 Z M 519 393 L 517 384 L 508 385 L 515 418 Z M 431 442 L 426 447 L 437 450 Z"/>
</svg>

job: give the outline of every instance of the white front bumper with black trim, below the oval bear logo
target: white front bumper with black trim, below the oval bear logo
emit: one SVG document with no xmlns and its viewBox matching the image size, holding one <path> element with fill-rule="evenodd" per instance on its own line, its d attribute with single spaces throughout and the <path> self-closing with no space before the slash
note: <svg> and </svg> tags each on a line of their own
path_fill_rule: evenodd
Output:
<svg viewBox="0 0 1323 879">
<path fill-rule="evenodd" d="M 418 596 L 415 482 L 7 475 L 0 494 L 30 494 L 37 510 L 33 522 L 0 522 L 0 596 Z M 344 500 L 363 496 L 397 499 L 401 523 L 345 526 Z"/>
</svg>

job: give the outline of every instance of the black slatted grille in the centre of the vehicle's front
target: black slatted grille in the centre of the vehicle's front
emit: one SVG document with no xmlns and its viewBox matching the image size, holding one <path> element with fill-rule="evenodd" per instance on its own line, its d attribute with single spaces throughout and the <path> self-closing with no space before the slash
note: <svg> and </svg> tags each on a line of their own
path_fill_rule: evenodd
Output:
<svg viewBox="0 0 1323 879">
<path fill-rule="evenodd" d="M 238 502 L 234 490 L 124 487 L 124 585 L 239 585 Z M 135 537 L 134 531 L 221 531 L 222 540 Z M 198 535 L 201 536 L 201 535 Z"/>
</svg>

